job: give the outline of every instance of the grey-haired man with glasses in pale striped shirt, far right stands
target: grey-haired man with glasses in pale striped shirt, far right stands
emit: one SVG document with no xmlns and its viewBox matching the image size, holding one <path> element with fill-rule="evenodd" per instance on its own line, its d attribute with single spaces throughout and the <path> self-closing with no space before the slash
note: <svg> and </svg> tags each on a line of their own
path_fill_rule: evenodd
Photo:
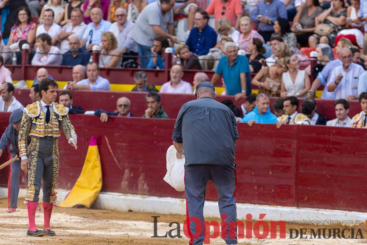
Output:
<svg viewBox="0 0 367 245">
<path fill-rule="evenodd" d="M 358 79 L 364 72 L 362 66 L 352 62 L 352 51 L 349 48 L 340 50 L 342 65 L 334 68 L 327 83 L 327 91 L 333 92 L 333 99 L 355 100 L 358 98 Z"/>
</svg>

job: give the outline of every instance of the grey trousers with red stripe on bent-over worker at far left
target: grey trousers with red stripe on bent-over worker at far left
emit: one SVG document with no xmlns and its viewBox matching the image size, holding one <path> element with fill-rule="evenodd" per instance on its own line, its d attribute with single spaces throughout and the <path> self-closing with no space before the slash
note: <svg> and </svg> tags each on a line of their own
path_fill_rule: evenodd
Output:
<svg viewBox="0 0 367 245">
<path fill-rule="evenodd" d="M 11 158 L 17 154 L 11 152 Z M 21 173 L 21 160 L 11 163 L 10 176 L 8 181 L 8 207 L 17 208 L 19 194 L 19 174 Z"/>
</svg>

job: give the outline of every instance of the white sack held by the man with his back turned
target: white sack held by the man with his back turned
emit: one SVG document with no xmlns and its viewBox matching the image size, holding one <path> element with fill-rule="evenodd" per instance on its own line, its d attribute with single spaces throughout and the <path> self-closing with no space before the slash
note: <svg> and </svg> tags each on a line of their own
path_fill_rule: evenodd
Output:
<svg viewBox="0 0 367 245">
<path fill-rule="evenodd" d="M 167 149 L 167 173 L 163 180 L 175 188 L 176 191 L 185 191 L 185 182 L 183 180 L 185 177 L 185 155 L 177 159 L 176 152 L 174 145 Z"/>
</svg>

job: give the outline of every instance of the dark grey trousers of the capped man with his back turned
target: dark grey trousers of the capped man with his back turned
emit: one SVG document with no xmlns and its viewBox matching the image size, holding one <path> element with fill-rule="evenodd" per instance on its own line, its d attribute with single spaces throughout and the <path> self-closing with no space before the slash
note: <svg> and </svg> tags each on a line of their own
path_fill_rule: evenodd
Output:
<svg viewBox="0 0 367 245">
<path fill-rule="evenodd" d="M 204 201 L 208 181 L 211 181 L 218 191 L 219 213 L 226 215 L 227 232 L 224 241 L 226 244 L 237 244 L 237 226 L 230 227 L 230 221 L 237 221 L 236 207 L 236 163 L 232 165 L 215 164 L 190 164 L 185 166 L 185 192 L 186 215 L 190 242 L 189 244 L 201 245 L 204 242 Z M 201 221 L 201 234 L 196 234 L 196 223 L 190 217 L 199 218 Z M 196 219 L 197 220 L 197 219 Z M 198 229 L 200 233 L 200 228 Z M 195 235 L 193 235 L 195 234 Z M 193 238 L 197 237 L 197 238 Z"/>
</svg>

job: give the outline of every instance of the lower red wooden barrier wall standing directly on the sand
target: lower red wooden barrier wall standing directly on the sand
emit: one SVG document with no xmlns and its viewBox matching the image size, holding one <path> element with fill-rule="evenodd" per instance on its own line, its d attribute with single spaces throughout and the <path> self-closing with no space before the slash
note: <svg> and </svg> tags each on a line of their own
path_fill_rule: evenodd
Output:
<svg viewBox="0 0 367 245">
<path fill-rule="evenodd" d="M 8 124 L 8 116 L 9 113 L 0 113 L 0 133 Z M 70 120 L 78 134 L 78 150 L 70 147 L 65 137 L 60 138 L 58 188 L 72 188 L 83 166 L 89 139 L 96 136 L 102 162 L 102 191 L 184 197 L 184 192 L 175 191 L 163 181 L 174 119 L 111 117 L 102 123 L 95 116 L 71 115 Z M 366 210 L 367 197 L 359 188 L 366 185 L 367 177 L 367 153 L 361 147 L 366 130 L 292 125 L 276 129 L 275 125 L 264 124 L 240 124 L 238 130 L 238 202 Z M 5 155 L 1 161 L 8 158 Z M 0 171 L 2 187 L 7 184 L 8 170 Z M 22 187 L 26 183 L 24 175 Z M 217 199 L 212 184 L 207 189 L 207 199 Z"/>
</svg>

